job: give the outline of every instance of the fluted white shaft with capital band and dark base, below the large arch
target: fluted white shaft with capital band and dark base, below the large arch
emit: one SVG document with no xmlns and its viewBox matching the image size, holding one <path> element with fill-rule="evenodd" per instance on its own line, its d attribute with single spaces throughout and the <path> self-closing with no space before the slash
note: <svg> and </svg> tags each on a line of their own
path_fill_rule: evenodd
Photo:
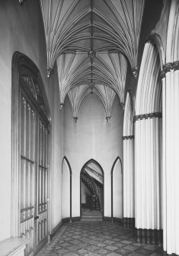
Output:
<svg viewBox="0 0 179 256">
<path fill-rule="evenodd" d="M 161 245 L 161 113 L 136 115 L 134 122 L 136 241 Z"/>
</svg>

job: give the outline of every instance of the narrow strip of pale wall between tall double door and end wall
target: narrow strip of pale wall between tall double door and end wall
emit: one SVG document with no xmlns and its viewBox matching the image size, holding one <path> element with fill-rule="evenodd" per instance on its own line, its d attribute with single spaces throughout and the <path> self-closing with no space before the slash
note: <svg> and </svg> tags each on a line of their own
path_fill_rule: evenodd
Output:
<svg viewBox="0 0 179 256">
<path fill-rule="evenodd" d="M 51 211 L 52 211 L 52 231 L 62 220 L 62 158 L 63 153 L 63 110 L 59 110 L 59 81 L 56 71 L 50 78 L 51 88 L 53 89 L 53 138 L 52 138 L 52 195 L 51 195 Z"/>
</svg>

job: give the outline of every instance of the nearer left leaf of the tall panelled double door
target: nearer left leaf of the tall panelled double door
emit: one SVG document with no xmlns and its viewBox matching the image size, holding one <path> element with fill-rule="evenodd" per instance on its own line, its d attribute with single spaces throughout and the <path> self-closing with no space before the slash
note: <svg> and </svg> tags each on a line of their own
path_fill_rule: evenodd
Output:
<svg viewBox="0 0 179 256">
<path fill-rule="evenodd" d="M 21 95 L 21 170 L 20 170 L 20 196 L 21 196 L 21 219 L 20 234 L 22 238 L 28 238 L 29 242 L 25 254 L 34 252 L 36 212 L 36 122 L 37 112 L 28 101 Z"/>
</svg>

